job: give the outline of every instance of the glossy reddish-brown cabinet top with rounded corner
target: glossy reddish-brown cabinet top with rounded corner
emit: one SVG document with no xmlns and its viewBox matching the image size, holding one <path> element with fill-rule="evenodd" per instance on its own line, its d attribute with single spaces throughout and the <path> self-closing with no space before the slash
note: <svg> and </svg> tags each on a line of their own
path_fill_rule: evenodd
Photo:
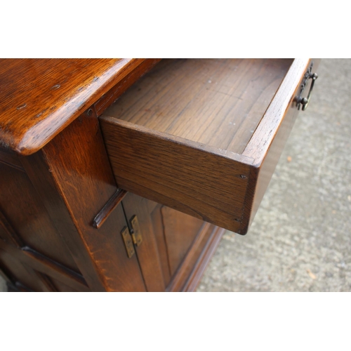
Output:
<svg viewBox="0 0 351 351">
<path fill-rule="evenodd" d="M 44 147 L 143 59 L 1 59 L 0 145 Z"/>
</svg>

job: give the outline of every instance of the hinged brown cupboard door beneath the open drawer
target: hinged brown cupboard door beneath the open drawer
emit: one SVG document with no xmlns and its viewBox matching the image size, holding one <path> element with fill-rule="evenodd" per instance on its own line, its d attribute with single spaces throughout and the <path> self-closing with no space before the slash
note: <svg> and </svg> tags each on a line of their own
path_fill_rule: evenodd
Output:
<svg viewBox="0 0 351 351">
<path fill-rule="evenodd" d="M 128 193 L 122 201 L 131 232 L 138 218 L 143 241 L 135 245 L 147 291 L 165 291 L 185 263 L 204 221 Z M 193 256 L 193 253 L 190 253 Z M 189 260 L 189 258 L 188 258 Z M 192 271 L 192 267 L 186 270 Z M 187 279 L 187 274 L 182 274 Z M 182 279 L 181 279 L 182 280 Z"/>
</svg>

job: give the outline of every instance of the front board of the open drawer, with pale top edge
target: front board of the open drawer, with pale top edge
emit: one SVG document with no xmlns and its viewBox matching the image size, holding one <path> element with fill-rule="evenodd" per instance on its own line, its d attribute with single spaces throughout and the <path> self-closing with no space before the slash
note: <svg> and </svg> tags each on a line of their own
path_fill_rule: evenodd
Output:
<svg viewBox="0 0 351 351">
<path fill-rule="evenodd" d="M 301 95 L 305 98 L 310 91 L 312 80 L 305 79 L 306 72 L 310 69 L 312 73 L 316 72 L 319 61 L 315 58 L 295 60 L 243 152 L 243 155 L 255 160 L 251 168 L 251 183 L 246 194 L 244 220 L 240 228 L 243 233 L 249 230 L 284 150 L 286 140 L 301 111 L 301 107 L 296 103 L 296 97 Z M 305 87 L 300 93 L 304 83 Z"/>
</svg>

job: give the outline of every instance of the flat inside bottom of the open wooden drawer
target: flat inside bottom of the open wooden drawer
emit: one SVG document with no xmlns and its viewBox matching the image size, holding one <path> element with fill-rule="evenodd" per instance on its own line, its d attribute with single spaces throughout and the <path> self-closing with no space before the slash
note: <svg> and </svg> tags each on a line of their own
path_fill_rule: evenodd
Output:
<svg viewBox="0 0 351 351">
<path fill-rule="evenodd" d="M 162 60 L 105 116 L 240 154 L 292 60 Z"/>
</svg>

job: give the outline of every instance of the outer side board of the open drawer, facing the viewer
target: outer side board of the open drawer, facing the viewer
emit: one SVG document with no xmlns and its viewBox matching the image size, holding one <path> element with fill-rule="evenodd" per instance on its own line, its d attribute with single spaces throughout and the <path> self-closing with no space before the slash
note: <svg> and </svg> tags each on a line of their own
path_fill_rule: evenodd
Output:
<svg viewBox="0 0 351 351">
<path fill-rule="evenodd" d="M 100 123 L 119 187 L 239 230 L 251 159 L 112 117 Z"/>
</svg>

